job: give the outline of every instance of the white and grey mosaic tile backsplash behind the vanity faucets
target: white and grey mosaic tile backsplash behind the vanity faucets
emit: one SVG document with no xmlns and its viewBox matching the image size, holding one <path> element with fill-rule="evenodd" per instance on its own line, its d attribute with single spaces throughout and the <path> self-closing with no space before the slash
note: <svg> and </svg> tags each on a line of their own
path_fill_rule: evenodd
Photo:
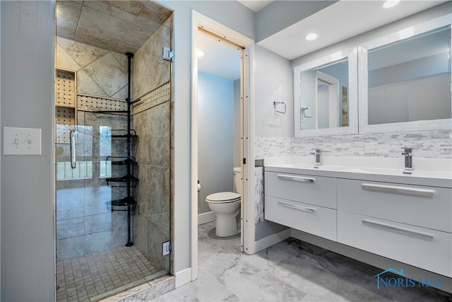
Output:
<svg viewBox="0 0 452 302">
<path fill-rule="evenodd" d="M 415 158 L 451 158 L 452 131 L 426 130 L 349 134 L 326 137 L 256 137 L 255 158 L 311 156 L 314 149 L 330 151 L 326 156 L 401 157 L 402 147 L 412 147 Z M 263 168 L 254 173 L 255 219 L 263 221 Z"/>
</svg>

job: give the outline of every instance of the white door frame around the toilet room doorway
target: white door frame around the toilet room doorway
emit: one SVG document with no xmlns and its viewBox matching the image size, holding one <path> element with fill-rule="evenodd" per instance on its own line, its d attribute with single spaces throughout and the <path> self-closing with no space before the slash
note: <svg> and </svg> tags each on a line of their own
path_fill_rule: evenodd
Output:
<svg viewBox="0 0 452 302">
<path fill-rule="evenodd" d="M 198 57 L 196 50 L 198 49 L 198 28 L 203 28 L 214 35 L 223 37 L 223 39 L 233 44 L 244 47 L 241 60 L 241 76 L 240 76 L 240 136 L 241 147 L 240 154 L 242 158 L 242 219 L 241 219 L 241 248 L 246 251 L 254 245 L 254 190 L 251 185 L 252 178 L 249 173 L 254 173 L 254 157 L 251 156 L 254 151 L 254 140 L 249 135 L 250 124 L 254 120 L 250 115 L 250 89 L 249 89 L 249 71 L 250 62 L 253 62 L 251 56 L 253 54 L 254 40 L 237 33 L 237 31 L 228 28 L 207 16 L 192 11 L 191 13 L 191 127 L 190 127 L 190 200 L 191 200 L 191 280 L 198 278 Z M 251 49 L 251 52 L 250 52 Z M 251 217 L 253 217 L 251 219 Z"/>
</svg>

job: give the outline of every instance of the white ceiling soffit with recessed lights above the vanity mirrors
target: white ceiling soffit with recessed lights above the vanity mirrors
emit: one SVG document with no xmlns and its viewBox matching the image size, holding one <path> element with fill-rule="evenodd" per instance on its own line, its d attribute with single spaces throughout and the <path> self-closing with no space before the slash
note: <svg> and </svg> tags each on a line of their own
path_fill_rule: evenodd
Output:
<svg viewBox="0 0 452 302">
<path fill-rule="evenodd" d="M 397 6 L 385 9 L 381 6 L 383 1 L 342 0 L 259 41 L 258 45 L 292 60 L 444 2 L 400 1 Z M 307 41 L 304 37 L 312 32 L 319 37 Z"/>
</svg>

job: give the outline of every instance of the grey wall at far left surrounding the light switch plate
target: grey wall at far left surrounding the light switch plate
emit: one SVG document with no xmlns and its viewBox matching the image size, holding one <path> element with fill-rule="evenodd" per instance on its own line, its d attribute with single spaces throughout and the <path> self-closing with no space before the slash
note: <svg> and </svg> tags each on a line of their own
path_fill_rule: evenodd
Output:
<svg viewBox="0 0 452 302">
<path fill-rule="evenodd" d="M 42 129 L 41 156 L 1 156 L 1 301 L 53 301 L 53 1 L 1 1 L 1 88 L 1 129 Z"/>
</svg>

